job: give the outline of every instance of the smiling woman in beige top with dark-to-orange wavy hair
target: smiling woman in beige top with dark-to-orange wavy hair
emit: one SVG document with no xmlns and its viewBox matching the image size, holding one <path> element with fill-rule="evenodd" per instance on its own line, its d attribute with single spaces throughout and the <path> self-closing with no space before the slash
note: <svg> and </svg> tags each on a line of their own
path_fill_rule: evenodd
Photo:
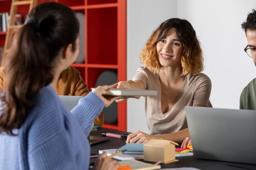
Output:
<svg viewBox="0 0 256 170">
<path fill-rule="evenodd" d="M 212 107 L 211 80 L 201 73 L 202 49 L 192 25 L 179 18 L 164 21 L 147 40 L 140 60 L 144 67 L 137 69 L 132 80 L 112 85 L 157 91 L 157 96 L 145 97 L 150 135 L 136 131 L 128 135 L 126 143 L 146 143 L 150 139 L 182 143 L 189 137 L 184 107 Z"/>
</svg>

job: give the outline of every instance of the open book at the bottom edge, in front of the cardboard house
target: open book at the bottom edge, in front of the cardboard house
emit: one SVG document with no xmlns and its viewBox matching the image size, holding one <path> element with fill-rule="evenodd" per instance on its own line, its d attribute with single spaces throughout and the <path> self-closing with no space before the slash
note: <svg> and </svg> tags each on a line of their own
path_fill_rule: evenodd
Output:
<svg viewBox="0 0 256 170">
<path fill-rule="evenodd" d="M 130 166 L 132 170 L 157 170 L 161 169 L 160 165 L 146 163 L 138 160 L 119 161 L 121 166 Z M 122 169 L 122 168 L 120 168 Z"/>
</svg>

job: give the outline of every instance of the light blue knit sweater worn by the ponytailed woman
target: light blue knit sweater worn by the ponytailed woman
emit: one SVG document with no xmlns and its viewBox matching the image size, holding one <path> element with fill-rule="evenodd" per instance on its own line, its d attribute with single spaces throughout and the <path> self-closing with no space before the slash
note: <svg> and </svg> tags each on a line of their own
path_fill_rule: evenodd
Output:
<svg viewBox="0 0 256 170">
<path fill-rule="evenodd" d="M 87 136 L 104 102 L 89 93 L 70 114 L 49 85 L 35 102 L 17 136 L 0 135 L 0 170 L 87 170 Z"/>
</svg>

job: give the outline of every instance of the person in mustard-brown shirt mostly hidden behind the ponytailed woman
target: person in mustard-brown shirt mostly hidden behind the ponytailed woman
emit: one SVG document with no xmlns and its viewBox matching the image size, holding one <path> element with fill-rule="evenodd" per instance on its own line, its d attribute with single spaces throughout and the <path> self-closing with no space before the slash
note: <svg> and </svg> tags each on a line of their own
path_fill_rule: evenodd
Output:
<svg viewBox="0 0 256 170">
<path fill-rule="evenodd" d="M 4 84 L 4 67 L 0 68 L 0 90 Z M 89 93 L 87 85 L 83 82 L 80 72 L 73 66 L 69 66 L 64 70 L 59 79 L 57 88 L 55 89 L 58 95 L 74 95 L 85 96 Z M 104 113 L 94 119 L 94 126 L 102 127 L 104 124 Z"/>
</svg>

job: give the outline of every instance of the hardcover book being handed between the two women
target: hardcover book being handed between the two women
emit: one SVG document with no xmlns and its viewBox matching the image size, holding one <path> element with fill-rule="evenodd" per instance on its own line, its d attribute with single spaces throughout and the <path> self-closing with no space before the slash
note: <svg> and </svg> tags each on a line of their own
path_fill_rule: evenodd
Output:
<svg viewBox="0 0 256 170">
<path fill-rule="evenodd" d="M 94 91 L 95 88 L 91 88 Z M 157 91 L 132 88 L 111 88 L 105 90 L 103 95 L 111 96 L 156 96 Z"/>
</svg>

